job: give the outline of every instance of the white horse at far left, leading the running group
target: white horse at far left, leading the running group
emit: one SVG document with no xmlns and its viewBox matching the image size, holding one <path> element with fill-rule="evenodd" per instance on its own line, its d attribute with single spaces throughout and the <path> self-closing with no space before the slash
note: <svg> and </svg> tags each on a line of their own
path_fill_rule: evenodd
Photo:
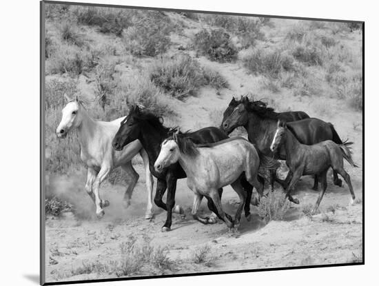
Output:
<svg viewBox="0 0 379 286">
<path fill-rule="evenodd" d="M 110 122 L 95 121 L 90 117 L 77 96 L 76 99 L 72 100 L 65 94 L 65 99 L 68 103 L 62 110 L 62 119 L 57 127 L 57 136 L 59 139 L 63 139 L 70 130 L 76 128 L 78 131 L 81 160 L 88 167 L 85 190 L 96 205 L 96 215 L 101 218 L 104 215 L 103 207 L 107 207 L 110 204 L 106 200 L 101 200 L 99 188 L 107 174 L 115 167 L 122 167 L 127 174 L 127 188 L 123 197 L 123 204 L 125 207 L 130 205 L 133 189 L 139 179 L 139 174 L 134 170 L 131 161 L 139 153 L 143 159 L 146 173 L 147 208 L 145 218 L 152 218 L 152 190 L 154 181 L 152 174 L 150 174 L 147 153 L 138 140 L 126 145 L 119 152 L 114 151 L 112 147 L 113 137 L 117 130 L 119 130 L 120 123 L 125 117 Z"/>
</svg>

